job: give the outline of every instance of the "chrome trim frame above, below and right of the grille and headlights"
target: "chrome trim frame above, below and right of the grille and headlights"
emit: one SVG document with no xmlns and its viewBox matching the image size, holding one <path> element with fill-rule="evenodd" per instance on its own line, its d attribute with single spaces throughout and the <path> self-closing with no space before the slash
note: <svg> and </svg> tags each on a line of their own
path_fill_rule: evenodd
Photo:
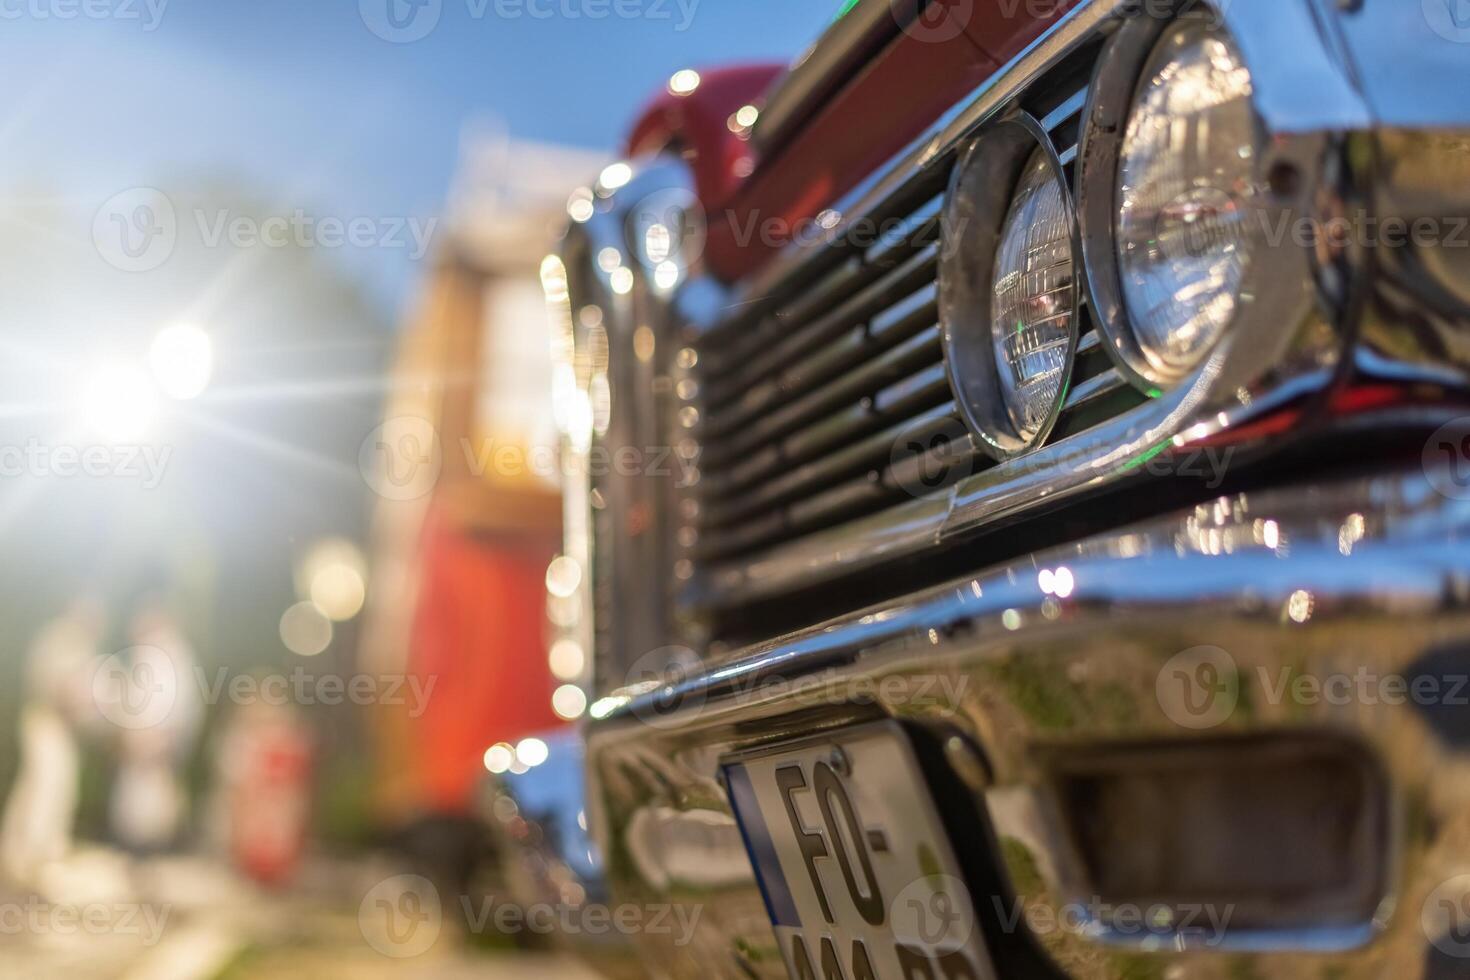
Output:
<svg viewBox="0 0 1470 980">
<path fill-rule="evenodd" d="M 973 103 L 944 120 L 853 203 L 835 209 L 839 219 L 833 234 L 881 220 L 906 187 L 922 173 L 951 166 L 963 141 L 1014 106 L 1017 94 L 1048 71 L 1102 35 L 1138 29 L 1132 25 L 1148 21 L 1130 16 L 1130 10 L 1136 13 L 1135 6 L 1102 0 L 1060 19 L 998 72 Z M 1261 160 L 1263 170 L 1291 167 L 1302 175 L 1289 200 L 1277 201 L 1273 213 L 1320 223 L 1323 215 L 1361 207 L 1358 198 L 1348 197 L 1351 181 L 1341 160 L 1341 141 L 1332 132 L 1372 126 L 1372 120 L 1330 31 L 1301 0 L 1222 4 L 1220 13 L 1251 65 L 1263 62 L 1257 107 L 1269 128 L 1282 135 Z M 832 262 L 833 251 L 839 248 L 792 247 L 735 297 L 753 297 L 750 303 L 759 307 L 760 298 L 779 294 L 782 284 Z M 739 607 L 879 566 L 895 555 L 922 554 L 948 535 L 997 517 L 1116 485 L 1133 475 L 1138 460 L 1148 454 L 1182 448 L 1277 410 L 1285 401 L 1326 391 L 1339 373 L 1345 339 L 1355 329 L 1354 291 L 1364 285 L 1363 262 L 1361 251 L 1322 257 L 1294 239 L 1282 242 L 1270 259 L 1273 275 L 1263 276 L 1254 292 L 1248 323 L 1186 383 L 1167 394 L 1151 389 L 1158 397 L 1125 419 L 976 473 L 945 491 L 941 504 L 933 498 L 914 501 L 750 558 L 697 569 L 686 604 L 695 611 Z M 741 313 L 719 329 L 745 329 L 750 316 Z"/>
</svg>

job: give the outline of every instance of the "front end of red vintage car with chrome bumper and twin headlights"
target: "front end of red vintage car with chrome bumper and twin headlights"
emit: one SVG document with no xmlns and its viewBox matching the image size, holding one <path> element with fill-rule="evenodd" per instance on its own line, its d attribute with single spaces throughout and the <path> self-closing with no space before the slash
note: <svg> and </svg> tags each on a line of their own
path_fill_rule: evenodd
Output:
<svg viewBox="0 0 1470 980">
<path fill-rule="evenodd" d="M 1470 21 L 939 6 L 542 266 L 591 892 L 653 976 L 1464 976 Z"/>
</svg>

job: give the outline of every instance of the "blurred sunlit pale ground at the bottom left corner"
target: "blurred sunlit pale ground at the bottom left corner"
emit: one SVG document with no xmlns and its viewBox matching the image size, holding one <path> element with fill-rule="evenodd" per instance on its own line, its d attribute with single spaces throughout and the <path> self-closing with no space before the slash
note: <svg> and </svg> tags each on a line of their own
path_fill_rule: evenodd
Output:
<svg viewBox="0 0 1470 980">
<path fill-rule="evenodd" d="M 41 892 L 0 886 L 0 980 L 597 980 L 569 956 L 466 942 L 448 923 L 422 949 L 382 952 L 363 896 L 391 873 L 319 864 L 266 892 L 209 861 L 84 854 Z"/>
</svg>

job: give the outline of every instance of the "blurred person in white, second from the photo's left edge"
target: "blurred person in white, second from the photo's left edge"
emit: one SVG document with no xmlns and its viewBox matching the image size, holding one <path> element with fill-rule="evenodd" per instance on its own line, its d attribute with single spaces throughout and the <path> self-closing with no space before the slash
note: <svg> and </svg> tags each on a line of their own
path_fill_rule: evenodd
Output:
<svg viewBox="0 0 1470 980">
<path fill-rule="evenodd" d="M 131 623 L 129 639 L 121 683 L 128 688 L 122 698 L 134 716 L 118 727 L 109 817 L 119 845 L 150 855 L 178 842 L 188 815 L 184 767 L 194 752 L 204 705 L 194 649 L 165 608 L 146 604 Z"/>
</svg>

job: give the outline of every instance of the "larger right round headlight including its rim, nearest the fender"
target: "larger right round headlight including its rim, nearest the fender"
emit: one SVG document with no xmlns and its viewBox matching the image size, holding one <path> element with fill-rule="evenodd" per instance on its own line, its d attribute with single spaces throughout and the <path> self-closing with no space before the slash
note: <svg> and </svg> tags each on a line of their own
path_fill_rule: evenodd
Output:
<svg viewBox="0 0 1470 980">
<path fill-rule="evenodd" d="M 1210 360 L 1272 272 L 1260 262 L 1270 147 L 1251 71 L 1216 10 L 1130 18 L 1104 48 L 1083 113 L 1089 307 L 1119 369 L 1152 395 Z"/>
</svg>

